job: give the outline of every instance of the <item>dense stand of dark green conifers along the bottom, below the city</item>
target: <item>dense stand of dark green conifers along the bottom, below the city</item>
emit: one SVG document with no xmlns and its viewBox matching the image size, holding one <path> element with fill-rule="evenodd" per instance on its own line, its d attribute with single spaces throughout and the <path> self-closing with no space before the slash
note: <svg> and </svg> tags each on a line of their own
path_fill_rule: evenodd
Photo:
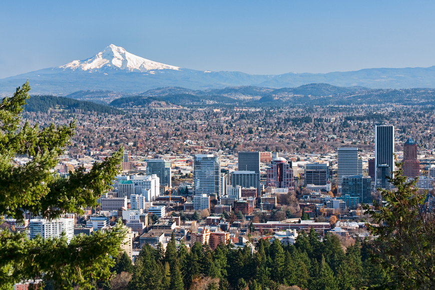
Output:
<svg viewBox="0 0 435 290">
<path fill-rule="evenodd" d="M 260 239 L 256 251 L 221 243 L 215 250 L 196 242 L 189 251 L 183 242 L 176 249 L 174 236 L 166 251 L 145 245 L 130 271 L 130 290 L 137 289 L 359 289 L 388 285 L 388 273 L 371 260 L 370 244 L 356 241 L 343 250 L 338 237 L 319 239 L 311 229 L 301 232 L 294 245 Z"/>
</svg>

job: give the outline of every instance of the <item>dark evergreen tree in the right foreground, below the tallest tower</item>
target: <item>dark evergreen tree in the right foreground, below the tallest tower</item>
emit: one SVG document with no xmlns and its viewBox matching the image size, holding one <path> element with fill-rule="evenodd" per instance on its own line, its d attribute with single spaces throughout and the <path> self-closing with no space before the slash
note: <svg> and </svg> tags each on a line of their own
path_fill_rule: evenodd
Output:
<svg viewBox="0 0 435 290">
<path fill-rule="evenodd" d="M 418 191 L 416 180 L 407 181 L 400 163 L 388 181 L 395 190 L 378 189 L 385 204 L 365 207 L 374 219 L 367 224 L 377 236 L 372 258 L 391 275 L 391 284 L 402 289 L 435 288 L 435 220 L 424 203 L 426 192 Z M 377 224 L 377 225 L 374 225 Z"/>
</svg>

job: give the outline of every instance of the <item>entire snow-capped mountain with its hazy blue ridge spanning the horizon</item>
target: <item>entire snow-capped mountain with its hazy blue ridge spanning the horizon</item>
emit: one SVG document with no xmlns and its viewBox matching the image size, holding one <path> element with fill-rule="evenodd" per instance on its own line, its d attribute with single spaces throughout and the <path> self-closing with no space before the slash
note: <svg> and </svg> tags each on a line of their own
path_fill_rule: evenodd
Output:
<svg viewBox="0 0 435 290">
<path fill-rule="evenodd" d="M 291 68 L 289 68 L 291 71 Z M 241 72 L 198 71 L 165 65 L 110 45 L 94 57 L 0 80 L 0 97 L 30 81 L 32 94 L 66 96 L 78 91 L 138 94 L 151 89 L 182 87 L 193 90 L 256 86 L 294 88 L 311 83 L 339 87 L 435 88 L 435 66 L 428 68 L 363 69 L 327 74 L 287 73 L 250 75 Z"/>
</svg>

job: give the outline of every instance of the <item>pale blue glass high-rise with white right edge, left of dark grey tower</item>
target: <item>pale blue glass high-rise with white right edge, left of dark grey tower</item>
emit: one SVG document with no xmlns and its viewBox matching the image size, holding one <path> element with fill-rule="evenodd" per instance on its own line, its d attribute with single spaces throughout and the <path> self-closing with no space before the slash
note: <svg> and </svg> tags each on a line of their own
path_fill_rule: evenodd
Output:
<svg viewBox="0 0 435 290">
<path fill-rule="evenodd" d="M 193 160 L 194 194 L 219 195 L 221 193 L 221 166 L 212 154 L 196 154 Z"/>
</svg>

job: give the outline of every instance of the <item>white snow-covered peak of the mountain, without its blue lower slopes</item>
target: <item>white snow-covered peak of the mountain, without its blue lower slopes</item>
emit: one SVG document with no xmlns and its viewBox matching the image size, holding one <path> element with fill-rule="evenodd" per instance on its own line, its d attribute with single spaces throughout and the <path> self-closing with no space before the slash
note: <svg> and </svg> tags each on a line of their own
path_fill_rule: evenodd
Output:
<svg viewBox="0 0 435 290">
<path fill-rule="evenodd" d="M 98 72 L 106 70 L 125 70 L 129 72 L 147 72 L 150 70 L 179 70 L 179 67 L 153 62 L 127 52 L 124 48 L 111 44 L 93 58 L 84 61 L 72 61 L 60 66 L 64 70 L 82 70 Z"/>
</svg>

